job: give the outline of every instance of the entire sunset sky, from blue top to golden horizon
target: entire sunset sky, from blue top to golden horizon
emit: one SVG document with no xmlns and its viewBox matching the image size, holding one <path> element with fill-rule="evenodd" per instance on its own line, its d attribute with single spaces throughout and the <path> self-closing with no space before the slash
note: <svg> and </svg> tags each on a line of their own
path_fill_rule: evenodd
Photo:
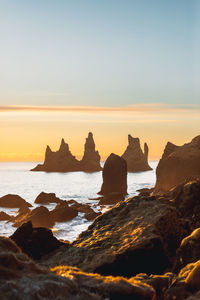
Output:
<svg viewBox="0 0 200 300">
<path fill-rule="evenodd" d="M 200 1 L 0 0 L 0 161 L 200 134 Z"/>
</svg>

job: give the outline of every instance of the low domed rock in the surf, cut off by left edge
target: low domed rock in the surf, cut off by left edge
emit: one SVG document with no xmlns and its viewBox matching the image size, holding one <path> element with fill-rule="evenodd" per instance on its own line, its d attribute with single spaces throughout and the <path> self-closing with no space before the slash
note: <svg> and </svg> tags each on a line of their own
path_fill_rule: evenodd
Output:
<svg viewBox="0 0 200 300">
<path fill-rule="evenodd" d="M 8 194 L 0 198 L 0 206 L 8 208 L 20 208 L 31 207 L 32 205 L 18 195 Z"/>
</svg>

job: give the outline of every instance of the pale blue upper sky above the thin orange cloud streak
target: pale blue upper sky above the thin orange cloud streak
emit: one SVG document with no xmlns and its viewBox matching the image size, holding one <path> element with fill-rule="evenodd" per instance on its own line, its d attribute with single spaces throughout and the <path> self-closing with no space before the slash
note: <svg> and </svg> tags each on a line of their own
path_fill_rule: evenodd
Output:
<svg viewBox="0 0 200 300">
<path fill-rule="evenodd" d="M 198 0 L 0 0 L 0 105 L 199 104 Z"/>
</svg>

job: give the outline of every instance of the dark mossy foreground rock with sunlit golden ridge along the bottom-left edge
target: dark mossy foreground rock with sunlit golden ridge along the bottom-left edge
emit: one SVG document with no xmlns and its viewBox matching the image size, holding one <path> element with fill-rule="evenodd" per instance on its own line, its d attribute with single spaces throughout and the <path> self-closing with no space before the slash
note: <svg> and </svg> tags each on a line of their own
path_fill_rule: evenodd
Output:
<svg viewBox="0 0 200 300">
<path fill-rule="evenodd" d="M 0 249 L 2 300 L 155 300 L 155 290 L 134 278 L 103 277 L 67 266 L 49 271 L 21 253 L 7 238 L 0 237 Z"/>
</svg>

